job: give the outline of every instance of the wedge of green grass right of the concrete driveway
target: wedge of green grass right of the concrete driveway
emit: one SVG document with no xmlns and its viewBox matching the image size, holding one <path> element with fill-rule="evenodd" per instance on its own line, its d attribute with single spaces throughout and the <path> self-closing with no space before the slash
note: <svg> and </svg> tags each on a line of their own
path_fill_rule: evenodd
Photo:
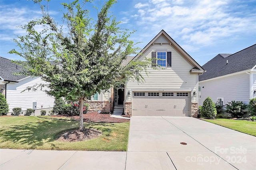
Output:
<svg viewBox="0 0 256 170">
<path fill-rule="evenodd" d="M 215 119 L 205 121 L 214 123 L 216 125 L 220 125 L 223 127 L 227 127 L 229 129 L 233 129 L 242 133 L 247 133 L 252 136 L 256 136 L 256 122 L 255 121 L 246 121 L 246 120 L 232 120 L 232 119 Z"/>
</svg>

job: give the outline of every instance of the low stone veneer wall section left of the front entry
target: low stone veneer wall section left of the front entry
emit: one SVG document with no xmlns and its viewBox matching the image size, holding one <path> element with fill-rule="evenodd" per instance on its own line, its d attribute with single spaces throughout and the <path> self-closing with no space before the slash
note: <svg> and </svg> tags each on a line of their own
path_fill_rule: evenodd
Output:
<svg viewBox="0 0 256 170">
<path fill-rule="evenodd" d="M 89 104 L 88 112 L 110 112 L 110 103 L 109 102 L 87 102 Z"/>
</svg>

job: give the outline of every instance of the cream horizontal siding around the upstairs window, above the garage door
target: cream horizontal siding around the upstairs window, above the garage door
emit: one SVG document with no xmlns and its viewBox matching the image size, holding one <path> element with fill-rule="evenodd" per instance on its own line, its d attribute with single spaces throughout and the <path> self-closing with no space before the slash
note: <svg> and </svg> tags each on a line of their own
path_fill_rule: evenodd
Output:
<svg viewBox="0 0 256 170">
<path fill-rule="evenodd" d="M 160 36 L 155 42 L 166 43 L 166 39 Z M 132 92 L 133 89 L 166 89 L 169 91 L 196 91 L 198 88 L 198 74 L 191 74 L 190 70 L 194 68 L 182 55 L 176 51 L 169 44 L 154 44 L 150 46 L 143 56 L 138 58 L 143 60 L 144 57 L 151 58 L 151 53 L 155 51 L 171 51 L 172 52 L 172 65 L 171 67 L 164 67 L 164 69 L 148 68 L 148 76 L 145 72 L 142 75 L 145 82 L 138 84 L 137 81 L 130 80 L 126 84 L 126 92 Z M 131 102 L 132 95 L 128 96 L 126 93 L 126 102 Z M 192 98 L 192 102 L 197 102 L 196 98 Z"/>
</svg>

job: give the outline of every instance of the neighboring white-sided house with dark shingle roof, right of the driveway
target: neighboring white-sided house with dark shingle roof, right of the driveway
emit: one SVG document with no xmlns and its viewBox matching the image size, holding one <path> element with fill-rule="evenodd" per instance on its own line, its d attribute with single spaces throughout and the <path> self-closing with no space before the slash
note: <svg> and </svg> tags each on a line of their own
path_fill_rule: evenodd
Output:
<svg viewBox="0 0 256 170">
<path fill-rule="evenodd" d="M 234 54 L 218 54 L 203 65 L 199 76 L 199 105 L 209 96 L 221 106 L 256 97 L 256 44 Z"/>
</svg>

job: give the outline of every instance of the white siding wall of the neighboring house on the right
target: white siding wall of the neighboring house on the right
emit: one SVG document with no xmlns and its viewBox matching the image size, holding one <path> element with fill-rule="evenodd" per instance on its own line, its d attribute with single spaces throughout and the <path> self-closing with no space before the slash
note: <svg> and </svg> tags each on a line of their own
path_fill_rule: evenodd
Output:
<svg viewBox="0 0 256 170">
<path fill-rule="evenodd" d="M 245 72 L 202 81 L 199 82 L 199 85 L 201 85 L 202 96 L 199 99 L 199 106 L 202 106 L 204 100 L 208 96 L 214 103 L 217 102 L 217 98 L 224 98 L 223 106 L 232 100 L 242 101 L 245 104 L 248 104 L 249 102 L 250 75 Z"/>
</svg>

